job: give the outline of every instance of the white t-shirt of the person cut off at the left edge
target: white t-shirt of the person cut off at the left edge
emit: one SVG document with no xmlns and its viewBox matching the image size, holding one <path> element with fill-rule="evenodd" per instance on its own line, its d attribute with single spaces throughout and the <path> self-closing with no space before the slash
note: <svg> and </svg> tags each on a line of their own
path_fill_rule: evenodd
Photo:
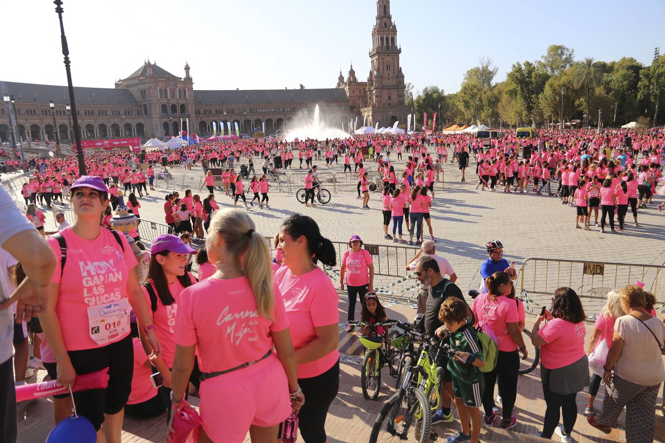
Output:
<svg viewBox="0 0 665 443">
<path fill-rule="evenodd" d="M 21 214 L 19 208 L 16 206 L 16 203 L 11 199 L 9 193 L 5 187 L 0 187 L 0 213 L 3 215 L 3 228 L 0 230 L 0 246 L 5 244 L 9 238 L 19 232 L 24 230 L 35 229 L 35 226 L 25 218 L 25 215 Z M 6 251 L 3 251 L 6 252 Z M 9 254 L 7 254 L 9 256 Z M 5 259 L 5 263 L 8 262 L 8 258 Z M 4 264 L 0 264 L 0 267 Z M 4 266 L 7 268 L 7 266 Z M 0 272 L 0 278 L 3 280 L 0 288 L 2 294 L 0 294 L 0 300 L 6 300 L 11 295 L 11 292 L 7 292 L 10 283 L 7 278 L 5 280 L 5 275 L 8 276 L 7 270 Z M 13 348 L 11 341 L 14 335 L 14 315 L 12 310 L 0 310 L 0 363 L 11 358 L 13 353 Z"/>
</svg>

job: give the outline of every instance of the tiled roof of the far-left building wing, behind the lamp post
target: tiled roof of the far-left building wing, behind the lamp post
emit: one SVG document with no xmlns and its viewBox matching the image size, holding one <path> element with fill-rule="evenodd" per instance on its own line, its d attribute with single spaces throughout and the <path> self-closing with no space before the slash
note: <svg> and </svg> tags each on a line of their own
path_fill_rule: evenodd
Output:
<svg viewBox="0 0 665 443">
<path fill-rule="evenodd" d="M 0 93 L 11 94 L 19 103 L 69 102 L 69 90 L 66 86 L 51 84 L 3 82 L 0 80 Z M 74 86 L 76 104 L 138 106 L 136 98 L 126 89 L 115 88 L 81 88 Z"/>
</svg>

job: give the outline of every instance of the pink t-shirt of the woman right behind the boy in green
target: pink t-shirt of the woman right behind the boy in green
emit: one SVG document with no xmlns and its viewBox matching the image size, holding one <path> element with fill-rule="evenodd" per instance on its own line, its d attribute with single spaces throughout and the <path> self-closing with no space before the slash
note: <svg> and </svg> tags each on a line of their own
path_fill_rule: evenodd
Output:
<svg viewBox="0 0 665 443">
<path fill-rule="evenodd" d="M 515 351 L 517 344 L 508 333 L 507 323 L 519 321 L 519 311 L 515 300 L 505 296 L 497 297 L 494 301 L 489 300 L 487 292 L 480 294 L 473 300 L 471 305 L 473 315 L 478 323 L 487 319 L 489 327 L 499 341 L 499 351 Z"/>
</svg>

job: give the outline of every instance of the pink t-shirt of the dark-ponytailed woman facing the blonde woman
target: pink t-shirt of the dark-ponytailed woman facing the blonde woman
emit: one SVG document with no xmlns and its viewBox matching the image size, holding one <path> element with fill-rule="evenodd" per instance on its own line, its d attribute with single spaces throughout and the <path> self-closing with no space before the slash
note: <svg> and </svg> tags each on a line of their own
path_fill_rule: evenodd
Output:
<svg viewBox="0 0 665 443">
<path fill-rule="evenodd" d="M 275 284 L 284 294 L 295 349 L 316 338 L 315 327 L 339 323 L 337 292 L 330 277 L 321 268 L 292 276 L 289 268 L 282 266 L 275 273 Z M 339 351 L 334 349 L 321 359 L 298 365 L 298 378 L 321 375 L 331 369 L 338 359 Z"/>
</svg>

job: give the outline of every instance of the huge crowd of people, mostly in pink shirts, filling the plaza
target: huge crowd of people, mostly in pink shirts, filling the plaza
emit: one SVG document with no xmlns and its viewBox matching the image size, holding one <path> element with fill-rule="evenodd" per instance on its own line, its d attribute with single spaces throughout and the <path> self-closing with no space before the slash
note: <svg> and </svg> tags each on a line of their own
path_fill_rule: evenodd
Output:
<svg viewBox="0 0 665 443">
<path fill-rule="evenodd" d="M 657 188 L 664 159 L 662 134 L 633 136 L 553 133 L 531 140 L 533 154 L 522 160 L 515 143 L 519 147 L 526 142 L 511 136 L 483 147 L 468 135 L 444 133 L 360 136 L 325 143 L 239 139 L 168 151 L 168 164 L 201 164 L 209 193 L 204 199 L 191 189 L 182 199 L 178 192 L 166 195 L 165 221 L 180 236 L 163 234 L 150 244 L 144 280 L 137 276 L 138 262 L 126 236 L 107 229 L 108 217 L 118 206 L 120 191 L 126 193 L 126 207 L 140 217 L 139 199 L 152 191 L 163 153 L 146 153 L 145 171 L 134 151 L 91 154 L 86 158 L 88 175 L 82 176 L 72 158 L 35 159 L 33 175 L 22 190 L 26 215 L 4 189 L 0 191 L 7 220 L 0 235 L 7 264 L 0 275 L 5 310 L 0 311 L 0 383 L 7 388 L 0 399 L 0 420 L 8 441 L 14 441 L 17 433 L 13 373 L 17 383 L 25 383 L 28 334 L 33 334 L 35 343 L 34 365 L 64 387 L 73 387 L 78 375 L 108 369 L 105 389 L 57 395 L 53 401 L 56 423 L 70 414 L 73 402 L 78 414 L 92 423 L 98 441 L 120 441 L 124 414 L 140 419 L 164 415 L 166 434 L 173 436 L 179 432 L 177 414 L 190 409 L 188 399 L 193 394 L 200 399 L 198 441 L 239 442 L 248 432 L 256 442 L 277 441 L 295 423 L 305 442 L 326 441 L 327 413 L 339 389 L 339 301 L 331 278 L 317 264 L 334 266 L 339 259 L 339 288 L 348 296 L 348 321 L 354 320 L 360 299 L 361 319 L 372 323 L 386 318 L 374 292 L 372 256 L 362 247 L 360 235 L 354 234 L 348 250 L 336 257 L 317 223 L 293 214 L 279 228 L 273 258 L 246 211 L 219 207 L 215 201 L 219 183 L 208 171 L 217 166 L 226 169 L 219 177 L 221 188 L 234 207 L 239 199 L 246 210 L 255 201 L 268 207 L 265 174 L 270 173 L 270 160 L 279 156 L 292 169 L 294 154 L 309 168 L 305 188 L 312 205 L 315 159 L 325 159 L 330 166 L 343 156 L 345 171 L 358 177 L 358 199 L 365 208 L 370 180 L 364 165 L 376 163 L 372 183 L 382 185 L 384 238 L 414 244 L 415 234 L 415 244 L 421 248 L 406 268 L 420 282 L 418 312 L 425 315 L 428 335 L 442 337 L 456 352 L 453 359 L 442 357 L 437 362 L 445 369 L 442 408 L 432 421 L 453 422 L 453 406 L 460 418 L 460 431 L 446 441 L 476 442 L 483 424 L 498 422 L 500 428 L 514 428 L 519 422 L 515 413 L 519 359 L 528 355 L 521 332 L 525 309 L 513 285 L 515 265 L 503 258 L 501 242 L 488 242 L 480 294 L 467 303 L 450 262 L 436 254 L 430 209 L 437 175 L 448 162 L 449 149 L 463 173 L 473 153 L 478 187 L 483 190 L 501 186 L 505 193 L 516 189 L 540 193 L 543 186 L 557 183 L 563 205 L 575 205 L 578 214 L 582 212 L 578 226 L 586 228 L 590 222 L 591 213 L 580 211 L 586 207 L 583 202 L 596 208 L 597 215 L 593 199 L 598 199 L 601 228 L 609 216 L 614 229 L 616 207 L 622 230 L 628 205 L 637 224 L 637 209 L 648 208 L 654 193 L 664 189 Z M 403 153 L 407 154 L 404 170 L 396 171 L 391 157 L 402 159 Z M 249 174 L 256 157 L 263 158 L 264 175 L 249 179 L 253 199 L 247 205 L 235 162 L 247 161 L 243 165 Z M 74 222 L 68 226 L 61 217 L 58 232 L 45 232 L 37 201 L 51 207 L 65 200 Z M 402 234 L 404 222 L 408 240 Z M 190 236 L 205 236 L 205 249 L 192 248 Z M 191 272 L 194 256 L 199 265 L 196 275 Z M 627 440 L 652 440 L 654 416 L 648 412 L 665 380 L 661 357 L 665 325 L 654 303 L 654 296 L 639 286 L 616 288 L 608 294 L 587 340 L 584 321 L 589 313 L 575 290 L 554 292 L 551 306 L 531 329 L 531 343 L 541 349 L 547 405 L 540 436 L 556 434 L 563 442 L 571 441 L 577 420 L 575 396 L 589 387 L 585 414 L 592 426 L 609 432 L 626 406 Z M 15 314 L 7 309 L 11 306 Z M 491 331 L 496 339 L 497 358 L 491 371 L 480 371 L 485 356 L 476 327 Z M 347 331 L 352 329 L 349 325 Z M 21 371 L 12 370 L 10 337 Z M 602 371 L 590 377 L 590 362 L 600 361 L 599 347 L 606 349 Z M 597 414 L 595 397 L 601 380 L 606 394 Z"/>
</svg>

